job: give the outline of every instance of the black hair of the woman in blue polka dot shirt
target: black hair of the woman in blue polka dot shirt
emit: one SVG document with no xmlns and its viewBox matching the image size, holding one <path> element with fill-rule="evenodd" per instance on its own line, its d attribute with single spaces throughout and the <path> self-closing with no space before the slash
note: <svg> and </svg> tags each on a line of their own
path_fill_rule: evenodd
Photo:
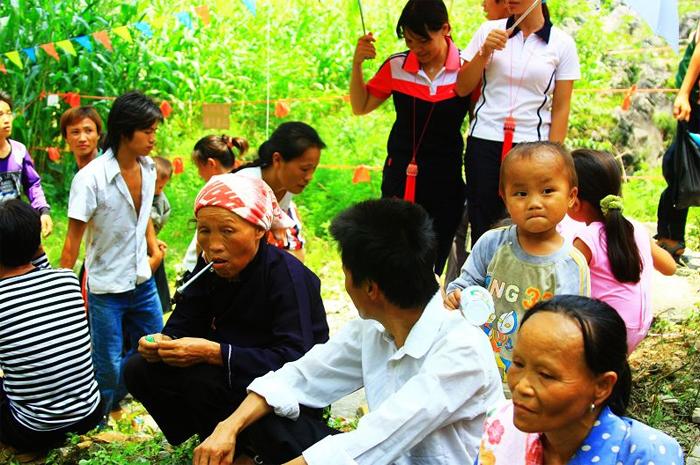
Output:
<svg viewBox="0 0 700 465">
<path fill-rule="evenodd" d="M 540 312 L 566 315 L 581 328 L 586 365 L 595 375 L 614 371 L 617 382 L 603 405 L 616 415 L 624 415 L 632 392 L 632 372 L 627 362 L 627 329 L 625 322 L 610 305 L 597 299 L 577 295 L 558 295 L 538 302 L 528 310 L 520 323 Z"/>
</svg>

